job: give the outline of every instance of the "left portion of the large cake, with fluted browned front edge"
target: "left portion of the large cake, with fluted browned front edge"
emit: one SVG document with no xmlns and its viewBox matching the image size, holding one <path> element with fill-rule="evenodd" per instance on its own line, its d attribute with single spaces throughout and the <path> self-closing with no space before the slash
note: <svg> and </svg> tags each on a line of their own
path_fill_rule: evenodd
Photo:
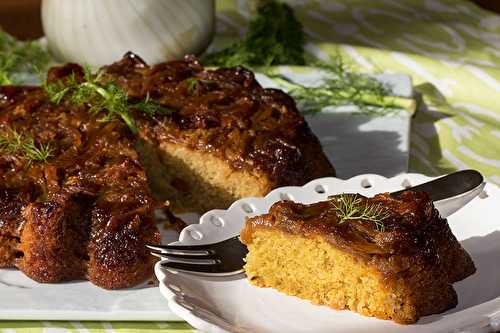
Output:
<svg viewBox="0 0 500 333">
<path fill-rule="evenodd" d="M 64 68 L 49 78 L 79 67 Z M 89 279 L 107 289 L 149 278 L 154 259 L 144 244 L 160 241 L 153 221 L 160 204 L 126 126 L 51 103 L 42 88 L 4 86 L 0 96 L 2 137 L 20 133 L 51 149 L 44 162 L 2 150 L 0 267 L 39 282 Z"/>
</svg>

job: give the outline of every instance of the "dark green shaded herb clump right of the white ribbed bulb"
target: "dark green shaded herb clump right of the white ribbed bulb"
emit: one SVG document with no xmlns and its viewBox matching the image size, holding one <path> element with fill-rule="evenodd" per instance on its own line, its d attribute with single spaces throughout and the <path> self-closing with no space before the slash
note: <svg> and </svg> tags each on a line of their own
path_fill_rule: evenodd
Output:
<svg viewBox="0 0 500 333">
<path fill-rule="evenodd" d="M 245 38 L 202 58 L 220 67 L 304 65 L 304 32 L 292 8 L 275 0 L 263 1 L 250 21 Z"/>
</svg>

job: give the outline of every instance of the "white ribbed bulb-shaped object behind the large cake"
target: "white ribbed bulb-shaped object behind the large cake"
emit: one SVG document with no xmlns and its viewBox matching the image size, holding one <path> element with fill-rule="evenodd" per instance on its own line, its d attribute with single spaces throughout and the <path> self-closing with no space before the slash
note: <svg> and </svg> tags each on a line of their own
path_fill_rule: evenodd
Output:
<svg viewBox="0 0 500 333">
<path fill-rule="evenodd" d="M 214 11 L 214 0 L 43 0 L 42 22 L 60 61 L 99 67 L 132 51 L 154 64 L 203 51 Z"/>
</svg>

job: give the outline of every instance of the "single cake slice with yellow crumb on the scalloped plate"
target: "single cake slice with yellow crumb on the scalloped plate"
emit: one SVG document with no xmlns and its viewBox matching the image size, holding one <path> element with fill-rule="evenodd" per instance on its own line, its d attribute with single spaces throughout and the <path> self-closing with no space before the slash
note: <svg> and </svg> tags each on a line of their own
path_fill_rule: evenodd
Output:
<svg viewBox="0 0 500 333">
<path fill-rule="evenodd" d="M 452 283 L 475 272 L 425 193 L 281 201 L 241 241 L 252 284 L 401 324 L 456 306 Z"/>
</svg>

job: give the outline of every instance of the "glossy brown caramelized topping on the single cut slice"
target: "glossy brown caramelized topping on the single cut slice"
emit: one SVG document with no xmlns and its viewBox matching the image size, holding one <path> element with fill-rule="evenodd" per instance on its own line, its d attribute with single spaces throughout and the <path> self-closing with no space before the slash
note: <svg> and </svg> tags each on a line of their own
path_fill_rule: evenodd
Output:
<svg viewBox="0 0 500 333">
<path fill-rule="evenodd" d="M 342 207 L 346 203 L 348 207 Z M 437 261 L 436 256 L 427 255 L 435 246 L 428 236 L 444 232 L 441 227 L 447 228 L 447 223 L 439 217 L 427 194 L 408 191 L 395 198 L 387 193 L 373 198 L 342 194 L 310 205 L 280 201 L 268 214 L 249 219 L 247 226 L 249 230 L 277 228 L 308 238 L 321 236 L 365 260 L 416 254 Z M 242 233 L 243 242 L 251 241 L 249 230 Z"/>
</svg>

